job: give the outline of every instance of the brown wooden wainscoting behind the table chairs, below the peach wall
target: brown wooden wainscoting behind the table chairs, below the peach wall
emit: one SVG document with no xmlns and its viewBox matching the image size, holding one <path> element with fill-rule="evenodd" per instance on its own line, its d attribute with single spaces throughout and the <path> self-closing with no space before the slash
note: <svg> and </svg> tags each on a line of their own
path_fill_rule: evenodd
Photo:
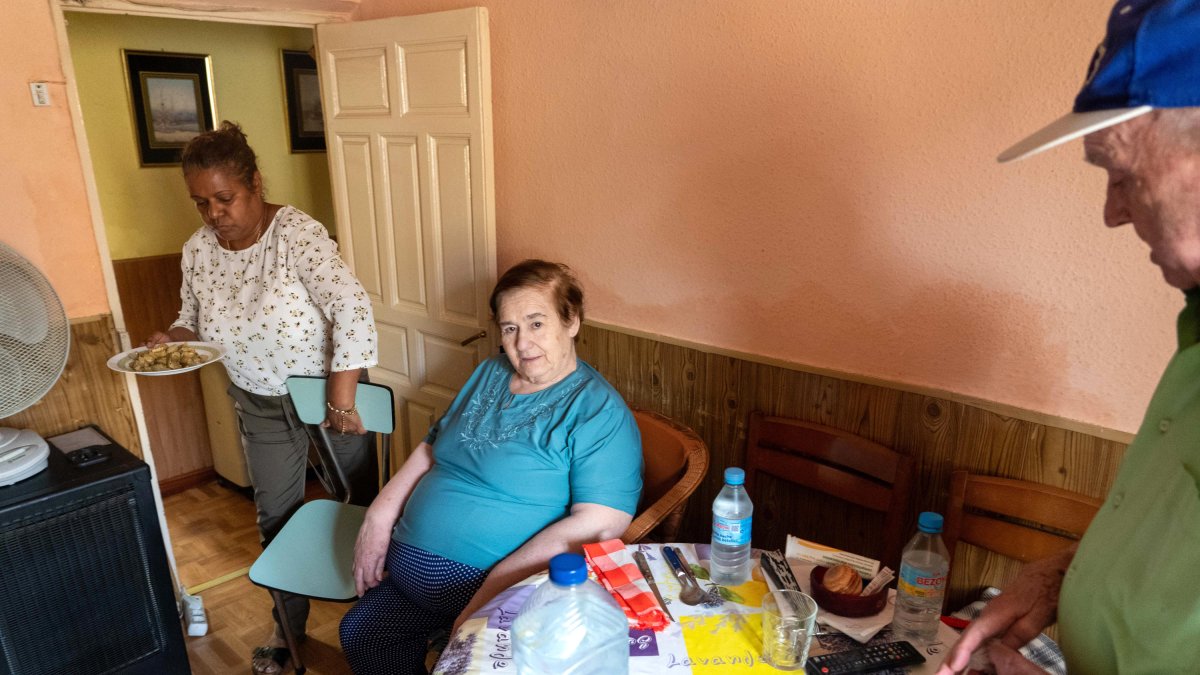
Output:
<svg viewBox="0 0 1200 675">
<path fill-rule="evenodd" d="M 594 324 L 580 331 L 578 353 L 630 406 L 686 424 L 708 443 L 708 477 L 692 495 L 680 531 L 686 542 L 708 540 L 710 504 L 721 489 L 724 468 L 743 465 L 746 424 L 755 410 L 844 429 L 910 454 L 916 474 L 908 532 L 916 531 L 919 512 L 943 509 L 954 468 L 1102 497 L 1126 448 L 1120 441 L 950 398 L 757 363 Z M 880 540 L 878 519 L 850 504 L 769 477 L 755 492 L 758 548 L 782 548 L 785 534 L 852 551 L 874 551 Z M 1015 569 L 991 554 L 964 556 L 960 562 L 950 581 L 950 602 L 956 604 Z"/>
</svg>

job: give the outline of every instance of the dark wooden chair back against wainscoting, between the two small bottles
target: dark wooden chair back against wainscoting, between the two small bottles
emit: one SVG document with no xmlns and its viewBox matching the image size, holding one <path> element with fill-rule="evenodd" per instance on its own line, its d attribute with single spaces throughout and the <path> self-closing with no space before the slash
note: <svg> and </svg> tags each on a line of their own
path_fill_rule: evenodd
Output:
<svg viewBox="0 0 1200 675">
<path fill-rule="evenodd" d="M 755 484 L 762 474 L 768 474 L 882 513 L 881 561 L 893 569 L 899 569 L 900 550 L 911 534 L 905 518 L 912 467 L 912 458 L 854 434 L 799 419 L 750 413 L 745 470 L 751 498 Z M 757 531 L 760 510 L 758 502 L 755 503 Z"/>
</svg>

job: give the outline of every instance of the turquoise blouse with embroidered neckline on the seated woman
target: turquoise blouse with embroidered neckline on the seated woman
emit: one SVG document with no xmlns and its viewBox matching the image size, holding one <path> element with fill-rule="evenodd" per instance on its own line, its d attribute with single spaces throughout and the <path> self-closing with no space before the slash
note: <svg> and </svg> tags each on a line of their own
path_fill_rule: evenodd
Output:
<svg viewBox="0 0 1200 675">
<path fill-rule="evenodd" d="M 506 357 L 487 359 L 430 429 L 433 468 L 395 539 L 490 569 L 571 504 L 637 509 L 642 441 L 620 394 L 582 360 L 534 394 L 510 394 L 511 377 Z"/>
</svg>

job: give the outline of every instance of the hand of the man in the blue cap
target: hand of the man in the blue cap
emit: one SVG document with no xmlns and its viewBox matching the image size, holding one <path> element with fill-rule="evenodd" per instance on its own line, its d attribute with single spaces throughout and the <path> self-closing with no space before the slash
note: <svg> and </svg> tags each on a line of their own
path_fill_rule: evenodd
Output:
<svg viewBox="0 0 1200 675">
<path fill-rule="evenodd" d="M 1026 565 L 1004 592 L 988 603 L 979 619 L 971 622 L 937 675 L 964 673 L 971 656 L 980 649 L 986 651 L 997 673 L 1024 673 L 1025 667 L 1033 667 L 1016 650 L 1054 623 L 1062 577 L 1074 556 L 1072 546 Z"/>
</svg>

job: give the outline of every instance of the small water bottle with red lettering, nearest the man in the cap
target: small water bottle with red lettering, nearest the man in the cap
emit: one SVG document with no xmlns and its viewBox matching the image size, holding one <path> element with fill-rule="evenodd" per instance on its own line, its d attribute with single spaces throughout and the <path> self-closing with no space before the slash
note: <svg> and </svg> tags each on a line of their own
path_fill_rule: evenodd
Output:
<svg viewBox="0 0 1200 675">
<path fill-rule="evenodd" d="M 895 616 L 898 640 L 926 644 L 937 635 L 950 555 L 942 543 L 942 515 L 926 510 L 917 519 L 917 534 L 900 556 Z"/>
</svg>

